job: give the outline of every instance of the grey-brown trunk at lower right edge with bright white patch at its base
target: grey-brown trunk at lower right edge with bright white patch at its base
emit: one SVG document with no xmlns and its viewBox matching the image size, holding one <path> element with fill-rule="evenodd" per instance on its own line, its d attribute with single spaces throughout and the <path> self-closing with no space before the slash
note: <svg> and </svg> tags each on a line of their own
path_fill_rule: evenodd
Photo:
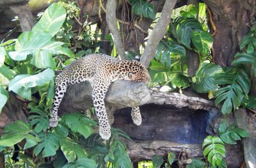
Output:
<svg viewBox="0 0 256 168">
<path fill-rule="evenodd" d="M 256 165 L 256 119 L 255 117 L 250 118 L 250 114 L 245 109 L 235 111 L 235 118 L 237 126 L 250 134 L 249 137 L 242 140 L 244 160 L 246 167 L 254 167 Z"/>
</svg>

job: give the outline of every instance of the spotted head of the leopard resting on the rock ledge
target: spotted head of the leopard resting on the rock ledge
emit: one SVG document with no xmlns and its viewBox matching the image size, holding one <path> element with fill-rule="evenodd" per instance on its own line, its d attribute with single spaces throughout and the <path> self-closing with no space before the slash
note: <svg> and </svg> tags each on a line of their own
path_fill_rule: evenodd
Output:
<svg viewBox="0 0 256 168">
<path fill-rule="evenodd" d="M 148 70 L 138 61 L 120 61 L 121 72 L 124 73 L 125 80 L 135 82 L 150 82 L 151 78 Z"/>
</svg>

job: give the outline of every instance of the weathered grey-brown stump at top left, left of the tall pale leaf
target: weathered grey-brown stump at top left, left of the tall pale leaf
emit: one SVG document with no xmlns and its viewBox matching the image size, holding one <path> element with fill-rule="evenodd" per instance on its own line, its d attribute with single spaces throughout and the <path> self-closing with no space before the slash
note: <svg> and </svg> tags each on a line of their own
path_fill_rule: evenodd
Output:
<svg viewBox="0 0 256 168">
<path fill-rule="evenodd" d="M 22 31 L 31 31 L 32 27 L 35 25 L 35 20 L 28 3 L 12 5 L 10 8 L 19 16 Z"/>
</svg>

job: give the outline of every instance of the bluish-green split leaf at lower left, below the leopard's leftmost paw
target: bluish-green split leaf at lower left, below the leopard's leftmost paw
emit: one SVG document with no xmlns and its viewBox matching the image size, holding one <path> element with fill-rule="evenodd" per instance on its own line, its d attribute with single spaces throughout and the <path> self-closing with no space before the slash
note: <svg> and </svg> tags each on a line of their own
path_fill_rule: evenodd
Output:
<svg viewBox="0 0 256 168">
<path fill-rule="evenodd" d="M 36 157 L 39 155 L 41 151 L 42 157 L 51 157 L 56 155 L 56 150 L 60 146 L 57 135 L 51 132 L 41 132 L 40 134 L 38 134 L 38 136 L 40 137 L 41 142 L 38 145 L 36 145 L 34 149 Z"/>
</svg>

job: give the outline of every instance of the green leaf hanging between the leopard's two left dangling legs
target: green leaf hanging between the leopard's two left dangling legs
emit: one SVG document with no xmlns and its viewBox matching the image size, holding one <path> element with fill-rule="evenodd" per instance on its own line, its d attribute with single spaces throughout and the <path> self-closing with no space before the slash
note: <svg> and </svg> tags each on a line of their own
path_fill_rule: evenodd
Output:
<svg viewBox="0 0 256 168">
<path fill-rule="evenodd" d="M 81 113 L 69 113 L 62 116 L 62 121 L 72 130 L 72 132 L 78 132 L 85 138 L 93 134 L 92 126 L 97 125 L 92 119 L 86 118 Z"/>
</svg>

